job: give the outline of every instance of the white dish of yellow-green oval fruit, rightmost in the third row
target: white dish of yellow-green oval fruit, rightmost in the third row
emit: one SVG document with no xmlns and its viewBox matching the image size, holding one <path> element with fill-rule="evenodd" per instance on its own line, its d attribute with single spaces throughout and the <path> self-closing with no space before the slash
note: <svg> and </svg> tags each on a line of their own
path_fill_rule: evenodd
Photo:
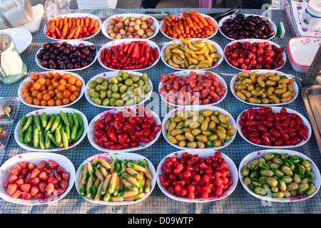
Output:
<svg viewBox="0 0 321 228">
<path fill-rule="evenodd" d="M 287 79 L 291 79 L 292 77 L 281 72 L 281 71 L 274 71 L 274 70 L 252 70 L 252 71 L 245 71 L 245 72 L 248 72 L 248 73 L 252 73 L 253 71 L 255 71 L 256 73 L 279 73 L 279 76 L 285 76 L 287 77 Z M 244 71 L 242 71 L 244 72 Z M 242 73 L 240 72 L 240 73 Z M 231 79 L 230 81 L 230 90 L 232 91 L 233 95 L 235 96 L 235 98 L 237 98 L 238 100 L 242 101 L 243 103 L 245 104 L 249 104 L 249 105 L 259 105 L 259 106 L 276 106 L 276 105 L 287 105 L 288 103 L 291 103 L 293 100 L 295 100 L 295 98 L 297 98 L 297 94 L 299 94 L 299 87 L 297 86 L 297 83 L 294 82 L 293 83 L 293 90 L 295 92 L 295 96 L 292 98 L 292 100 L 288 101 L 288 102 L 285 102 L 285 103 L 272 103 L 272 104 L 257 104 L 257 103 L 249 103 L 247 101 L 244 101 L 240 98 L 238 98 L 238 96 L 235 94 L 235 88 L 234 88 L 234 84 L 236 81 L 238 81 L 238 75 L 240 73 L 237 73 L 235 74 L 235 76 L 233 76 L 233 78 Z"/>
</svg>

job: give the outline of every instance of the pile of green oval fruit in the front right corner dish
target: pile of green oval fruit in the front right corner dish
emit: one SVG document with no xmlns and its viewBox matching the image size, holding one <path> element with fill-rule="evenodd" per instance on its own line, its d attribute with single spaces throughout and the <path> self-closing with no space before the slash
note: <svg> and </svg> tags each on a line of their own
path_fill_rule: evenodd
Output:
<svg viewBox="0 0 321 228">
<path fill-rule="evenodd" d="M 310 160 L 287 153 L 268 152 L 258 160 L 251 160 L 242 168 L 243 182 L 255 194 L 289 198 L 297 195 L 312 195 L 316 187 L 312 180 Z"/>
</svg>

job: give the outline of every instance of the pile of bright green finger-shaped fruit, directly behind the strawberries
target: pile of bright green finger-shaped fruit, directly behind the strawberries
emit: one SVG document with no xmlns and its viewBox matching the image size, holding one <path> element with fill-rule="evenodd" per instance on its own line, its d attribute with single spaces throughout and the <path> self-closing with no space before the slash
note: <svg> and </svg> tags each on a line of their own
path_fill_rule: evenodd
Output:
<svg viewBox="0 0 321 228">
<path fill-rule="evenodd" d="M 77 142 L 83 135 L 85 127 L 79 113 L 57 114 L 41 113 L 40 115 L 24 115 L 19 125 L 19 140 L 34 148 L 42 150 L 51 147 L 64 147 Z"/>
</svg>

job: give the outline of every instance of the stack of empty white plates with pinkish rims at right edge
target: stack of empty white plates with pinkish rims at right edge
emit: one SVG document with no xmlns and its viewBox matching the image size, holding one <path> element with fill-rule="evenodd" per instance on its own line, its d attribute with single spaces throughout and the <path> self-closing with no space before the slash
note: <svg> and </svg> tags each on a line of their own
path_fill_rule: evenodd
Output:
<svg viewBox="0 0 321 228">
<path fill-rule="evenodd" d="M 287 45 L 287 56 L 292 68 L 298 73 L 307 73 L 320 45 L 320 38 L 291 38 Z"/>
</svg>

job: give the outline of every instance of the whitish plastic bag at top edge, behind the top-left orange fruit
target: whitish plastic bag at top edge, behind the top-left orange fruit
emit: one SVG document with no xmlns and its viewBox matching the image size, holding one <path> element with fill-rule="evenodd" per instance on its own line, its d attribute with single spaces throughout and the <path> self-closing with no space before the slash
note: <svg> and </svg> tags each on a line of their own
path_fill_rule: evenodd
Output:
<svg viewBox="0 0 321 228">
<path fill-rule="evenodd" d="M 52 19 L 61 14 L 70 14 L 70 1 L 71 0 L 46 0 L 44 7 L 46 9 L 47 19 Z"/>
</svg>

